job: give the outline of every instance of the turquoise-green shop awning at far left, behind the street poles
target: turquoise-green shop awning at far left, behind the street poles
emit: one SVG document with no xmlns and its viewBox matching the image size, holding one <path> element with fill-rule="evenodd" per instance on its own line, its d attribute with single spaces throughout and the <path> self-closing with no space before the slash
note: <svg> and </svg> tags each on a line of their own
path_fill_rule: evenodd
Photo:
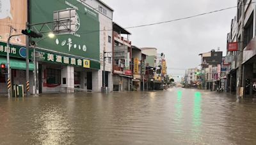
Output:
<svg viewBox="0 0 256 145">
<path fill-rule="evenodd" d="M 7 60 L 4 57 L 0 57 L 0 63 L 7 64 Z M 26 70 L 26 61 L 25 60 L 18 60 L 18 59 L 10 59 L 10 68 L 11 69 L 19 69 L 19 70 Z M 29 62 L 29 71 L 34 70 L 34 64 Z"/>
</svg>

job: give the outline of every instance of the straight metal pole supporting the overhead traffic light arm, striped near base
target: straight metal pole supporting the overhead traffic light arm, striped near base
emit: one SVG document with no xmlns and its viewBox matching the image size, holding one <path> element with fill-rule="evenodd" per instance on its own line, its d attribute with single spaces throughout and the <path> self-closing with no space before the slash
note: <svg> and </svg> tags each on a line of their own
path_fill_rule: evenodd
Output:
<svg viewBox="0 0 256 145">
<path fill-rule="evenodd" d="M 26 29 L 29 29 L 28 22 L 26 23 Z M 29 36 L 26 35 L 26 90 L 27 96 L 30 95 L 29 92 Z"/>
</svg>

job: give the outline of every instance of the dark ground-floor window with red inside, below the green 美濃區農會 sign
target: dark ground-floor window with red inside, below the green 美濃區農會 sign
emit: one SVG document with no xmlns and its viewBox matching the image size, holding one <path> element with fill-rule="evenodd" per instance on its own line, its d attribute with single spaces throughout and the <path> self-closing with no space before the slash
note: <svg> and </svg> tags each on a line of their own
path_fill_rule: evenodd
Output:
<svg viewBox="0 0 256 145">
<path fill-rule="evenodd" d="M 59 69 L 46 70 L 46 83 L 47 84 L 60 84 L 61 71 Z"/>
</svg>

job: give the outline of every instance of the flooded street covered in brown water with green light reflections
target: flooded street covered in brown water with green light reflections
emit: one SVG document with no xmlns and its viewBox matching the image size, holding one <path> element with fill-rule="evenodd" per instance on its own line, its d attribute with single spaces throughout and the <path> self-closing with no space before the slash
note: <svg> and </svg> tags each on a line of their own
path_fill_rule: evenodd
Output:
<svg viewBox="0 0 256 145">
<path fill-rule="evenodd" d="M 256 104 L 226 93 L 0 97 L 0 144 L 256 144 Z"/>
</svg>

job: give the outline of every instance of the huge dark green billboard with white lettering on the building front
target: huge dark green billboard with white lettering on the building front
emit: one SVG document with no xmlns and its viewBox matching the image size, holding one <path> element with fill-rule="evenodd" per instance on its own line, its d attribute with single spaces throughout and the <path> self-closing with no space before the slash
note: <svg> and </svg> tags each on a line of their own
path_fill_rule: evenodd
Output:
<svg viewBox="0 0 256 145">
<path fill-rule="evenodd" d="M 99 15 L 77 0 L 33 0 L 30 4 L 30 24 L 38 24 L 53 21 L 54 11 L 76 10 L 76 32 L 73 34 L 59 34 L 55 38 L 47 38 L 38 43 L 38 48 L 61 52 L 72 57 L 82 57 L 99 61 Z M 42 25 L 33 26 L 31 29 L 40 30 Z M 49 31 L 44 27 L 42 31 Z M 39 39 L 35 39 L 39 41 Z"/>
</svg>

